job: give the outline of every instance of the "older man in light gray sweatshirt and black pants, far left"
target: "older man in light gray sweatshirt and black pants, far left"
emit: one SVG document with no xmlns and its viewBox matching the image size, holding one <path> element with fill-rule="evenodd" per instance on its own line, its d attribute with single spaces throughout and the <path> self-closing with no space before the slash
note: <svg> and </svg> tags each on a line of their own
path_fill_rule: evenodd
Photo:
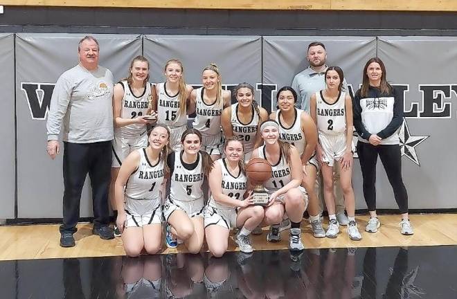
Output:
<svg viewBox="0 0 457 299">
<path fill-rule="evenodd" d="M 113 239 L 109 227 L 108 190 L 113 139 L 113 74 L 98 66 L 98 42 L 87 36 L 78 44 L 79 64 L 57 80 L 46 128 L 47 152 L 52 159 L 64 141 L 63 224 L 60 246 L 75 246 L 73 233 L 80 215 L 82 186 L 91 179 L 93 230 L 102 239 Z"/>
</svg>

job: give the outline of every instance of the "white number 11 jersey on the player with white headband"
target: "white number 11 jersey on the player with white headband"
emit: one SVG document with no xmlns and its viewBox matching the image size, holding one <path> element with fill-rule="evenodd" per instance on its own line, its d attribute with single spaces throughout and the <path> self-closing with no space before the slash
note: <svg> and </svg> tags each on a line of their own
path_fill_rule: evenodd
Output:
<svg viewBox="0 0 457 299">
<path fill-rule="evenodd" d="M 259 157 L 267 160 L 267 156 L 265 155 L 265 145 L 259 147 L 258 151 Z M 289 181 L 292 181 L 291 170 L 283 153 L 281 152 L 278 163 L 276 163 L 276 165 L 271 165 L 271 178 L 269 178 L 268 181 L 265 181 L 263 185 L 267 188 L 268 194 L 271 195 L 276 190 L 279 190 L 287 185 Z"/>
</svg>

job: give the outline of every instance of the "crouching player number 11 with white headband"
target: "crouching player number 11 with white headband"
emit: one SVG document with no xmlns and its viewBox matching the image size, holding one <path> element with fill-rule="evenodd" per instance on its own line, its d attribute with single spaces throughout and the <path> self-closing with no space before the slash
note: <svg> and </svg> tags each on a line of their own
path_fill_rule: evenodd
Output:
<svg viewBox="0 0 457 299">
<path fill-rule="evenodd" d="M 279 226 L 285 213 L 291 221 L 289 248 L 301 251 L 301 219 L 305 212 L 308 197 L 301 187 L 301 159 L 294 145 L 279 141 L 279 124 L 267 120 L 260 125 L 260 134 L 265 145 L 254 149 L 252 158 L 265 158 L 271 164 L 272 176 L 263 183 L 269 194 L 269 203 L 265 207 L 262 224 L 270 226 L 267 236 L 269 242 L 280 241 Z"/>
</svg>

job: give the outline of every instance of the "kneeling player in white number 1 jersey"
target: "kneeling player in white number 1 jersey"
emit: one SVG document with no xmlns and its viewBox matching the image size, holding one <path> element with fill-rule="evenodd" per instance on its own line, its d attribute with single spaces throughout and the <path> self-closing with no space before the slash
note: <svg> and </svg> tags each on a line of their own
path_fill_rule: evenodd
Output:
<svg viewBox="0 0 457 299">
<path fill-rule="evenodd" d="M 161 184 L 168 171 L 165 158 L 170 151 L 170 132 L 156 126 L 148 147 L 136 149 L 125 158 L 115 183 L 118 217 L 125 253 L 138 256 L 143 248 L 150 254 L 161 248 Z M 125 188 L 125 190 L 124 190 Z M 125 201 L 125 204 L 124 204 Z"/>
</svg>

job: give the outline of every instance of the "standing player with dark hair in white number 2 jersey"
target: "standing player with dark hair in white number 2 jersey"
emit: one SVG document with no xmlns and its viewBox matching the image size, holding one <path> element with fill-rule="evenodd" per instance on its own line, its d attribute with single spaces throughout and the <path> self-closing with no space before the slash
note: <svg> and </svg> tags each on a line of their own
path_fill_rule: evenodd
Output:
<svg viewBox="0 0 457 299">
<path fill-rule="evenodd" d="M 333 167 L 339 167 L 341 188 L 343 189 L 346 210 L 348 211 L 348 235 L 350 239 L 361 239 L 355 222 L 355 197 L 352 190 L 352 99 L 342 91 L 343 71 L 339 66 L 330 66 L 325 71 L 327 88 L 311 96 L 311 116 L 319 132 L 317 156 L 321 162 L 324 185 L 325 206 L 330 224 L 325 235 L 337 237 L 339 223 L 335 215 Z"/>
</svg>

